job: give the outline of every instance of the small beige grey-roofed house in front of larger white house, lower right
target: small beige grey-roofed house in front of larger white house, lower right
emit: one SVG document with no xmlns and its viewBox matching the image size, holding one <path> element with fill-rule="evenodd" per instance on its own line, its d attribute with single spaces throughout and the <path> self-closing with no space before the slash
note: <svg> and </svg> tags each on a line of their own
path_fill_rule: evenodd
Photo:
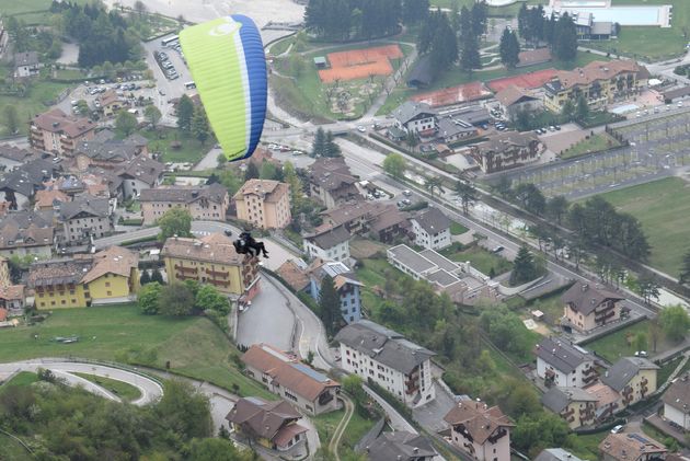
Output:
<svg viewBox="0 0 690 461">
<path fill-rule="evenodd" d="M 582 388 L 551 388 L 541 404 L 561 416 L 571 429 L 596 423 L 597 397 Z"/>
</svg>

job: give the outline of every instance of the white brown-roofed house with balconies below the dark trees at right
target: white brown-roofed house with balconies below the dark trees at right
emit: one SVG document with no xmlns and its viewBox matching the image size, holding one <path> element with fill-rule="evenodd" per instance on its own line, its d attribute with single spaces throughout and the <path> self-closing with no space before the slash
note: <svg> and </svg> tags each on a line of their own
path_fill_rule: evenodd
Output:
<svg viewBox="0 0 690 461">
<path fill-rule="evenodd" d="M 561 300 L 564 304 L 562 325 L 589 333 L 620 320 L 624 298 L 600 285 L 577 281 Z"/>
</svg>

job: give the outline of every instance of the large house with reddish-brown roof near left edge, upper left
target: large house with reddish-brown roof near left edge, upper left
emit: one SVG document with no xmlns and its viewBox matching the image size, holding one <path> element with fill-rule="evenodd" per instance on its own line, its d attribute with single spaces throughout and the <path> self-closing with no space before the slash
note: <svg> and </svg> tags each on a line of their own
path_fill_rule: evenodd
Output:
<svg viewBox="0 0 690 461">
<path fill-rule="evenodd" d="M 72 157 L 79 141 L 93 139 L 96 124 L 85 117 L 72 117 L 59 108 L 36 115 L 28 123 L 28 143 L 38 151 Z"/>
</svg>

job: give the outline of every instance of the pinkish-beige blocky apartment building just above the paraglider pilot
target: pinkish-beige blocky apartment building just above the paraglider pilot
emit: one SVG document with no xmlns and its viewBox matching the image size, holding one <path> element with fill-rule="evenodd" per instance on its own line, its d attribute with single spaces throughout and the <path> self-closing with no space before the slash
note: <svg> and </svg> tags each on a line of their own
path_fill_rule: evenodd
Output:
<svg viewBox="0 0 690 461">
<path fill-rule="evenodd" d="M 250 180 L 232 197 L 238 218 L 260 229 L 284 229 L 290 215 L 290 186 L 271 180 Z"/>
</svg>

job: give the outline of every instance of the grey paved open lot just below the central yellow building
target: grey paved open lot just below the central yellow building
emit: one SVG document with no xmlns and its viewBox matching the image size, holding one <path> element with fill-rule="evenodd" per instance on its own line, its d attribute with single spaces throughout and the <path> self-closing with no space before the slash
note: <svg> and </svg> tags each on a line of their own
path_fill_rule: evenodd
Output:
<svg viewBox="0 0 690 461">
<path fill-rule="evenodd" d="M 295 315 L 280 290 L 262 276 L 261 290 L 252 306 L 239 314 L 237 343 L 251 346 L 266 343 L 279 350 L 292 348 Z"/>
</svg>

